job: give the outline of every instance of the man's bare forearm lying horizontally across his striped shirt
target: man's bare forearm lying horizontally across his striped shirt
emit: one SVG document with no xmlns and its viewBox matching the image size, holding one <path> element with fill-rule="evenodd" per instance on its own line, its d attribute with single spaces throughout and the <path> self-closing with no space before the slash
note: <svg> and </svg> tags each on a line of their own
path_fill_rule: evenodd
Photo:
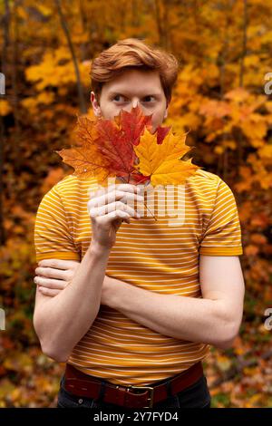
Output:
<svg viewBox="0 0 272 426">
<path fill-rule="evenodd" d="M 105 280 L 106 305 L 160 334 L 222 348 L 234 337 L 220 300 L 161 295 L 108 276 Z"/>
</svg>

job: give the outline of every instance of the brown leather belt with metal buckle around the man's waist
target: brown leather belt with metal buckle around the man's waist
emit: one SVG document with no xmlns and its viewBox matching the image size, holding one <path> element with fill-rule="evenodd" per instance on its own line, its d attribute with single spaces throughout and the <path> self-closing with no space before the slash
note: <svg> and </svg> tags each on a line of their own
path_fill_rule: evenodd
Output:
<svg viewBox="0 0 272 426">
<path fill-rule="evenodd" d="M 116 385 L 90 376 L 66 363 L 63 387 L 73 395 L 100 400 L 128 408 L 152 408 L 153 404 L 183 391 L 203 375 L 202 363 L 195 363 L 188 370 L 172 379 L 154 386 Z M 141 393 L 137 393 L 137 391 Z"/>
</svg>

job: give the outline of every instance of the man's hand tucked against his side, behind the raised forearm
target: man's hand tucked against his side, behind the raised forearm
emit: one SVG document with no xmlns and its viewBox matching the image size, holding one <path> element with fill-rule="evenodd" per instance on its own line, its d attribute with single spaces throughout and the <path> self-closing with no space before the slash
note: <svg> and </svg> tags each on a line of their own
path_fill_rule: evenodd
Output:
<svg viewBox="0 0 272 426">
<path fill-rule="evenodd" d="M 34 283 L 43 295 L 58 295 L 73 280 L 77 260 L 44 259 L 35 269 Z"/>
</svg>

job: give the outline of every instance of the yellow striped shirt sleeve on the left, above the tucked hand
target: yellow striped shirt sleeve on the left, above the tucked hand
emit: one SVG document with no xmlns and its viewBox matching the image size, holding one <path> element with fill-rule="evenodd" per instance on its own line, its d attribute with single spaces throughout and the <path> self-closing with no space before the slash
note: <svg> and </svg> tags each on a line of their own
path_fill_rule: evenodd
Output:
<svg viewBox="0 0 272 426">
<path fill-rule="evenodd" d="M 34 247 L 37 262 L 52 258 L 80 260 L 56 185 L 44 195 L 37 210 Z"/>
</svg>

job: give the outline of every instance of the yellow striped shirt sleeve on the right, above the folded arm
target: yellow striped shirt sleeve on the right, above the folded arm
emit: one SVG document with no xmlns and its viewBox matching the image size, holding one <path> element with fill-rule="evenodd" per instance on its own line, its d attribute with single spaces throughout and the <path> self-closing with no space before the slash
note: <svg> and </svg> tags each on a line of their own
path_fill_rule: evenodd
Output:
<svg viewBox="0 0 272 426">
<path fill-rule="evenodd" d="M 243 254 L 236 200 L 222 179 L 219 179 L 214 208 L 200 243 L 199 254 L 209 256 Z"/>
</svg>

